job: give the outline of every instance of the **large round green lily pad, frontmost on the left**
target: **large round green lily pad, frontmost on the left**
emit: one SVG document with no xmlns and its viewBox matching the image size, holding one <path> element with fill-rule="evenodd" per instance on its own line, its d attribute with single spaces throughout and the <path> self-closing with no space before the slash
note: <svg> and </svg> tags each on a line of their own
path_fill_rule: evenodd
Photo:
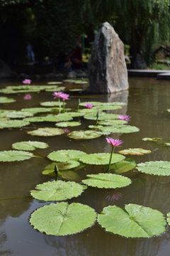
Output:
<svg viewBox="0 0 170 256">
<path fill-rule="evenodd" d="M 72 235 L 91 227 L 96 212 L 81 203 L 51 203 L 35 210 L 30 225 L 47 235 Z"/>
</svg>

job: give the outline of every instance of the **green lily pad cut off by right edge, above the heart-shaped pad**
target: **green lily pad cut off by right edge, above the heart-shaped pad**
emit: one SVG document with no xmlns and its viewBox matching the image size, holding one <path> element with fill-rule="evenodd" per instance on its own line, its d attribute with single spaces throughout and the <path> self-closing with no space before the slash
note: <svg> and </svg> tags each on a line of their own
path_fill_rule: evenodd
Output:
<svg viewBox="0 0 170 256">
<path fill-rule="evenodd" d="M 170 161 L 147 161 L 137 164 L 137 170 L 145 174 L 170 176 Z"/>
</svg>

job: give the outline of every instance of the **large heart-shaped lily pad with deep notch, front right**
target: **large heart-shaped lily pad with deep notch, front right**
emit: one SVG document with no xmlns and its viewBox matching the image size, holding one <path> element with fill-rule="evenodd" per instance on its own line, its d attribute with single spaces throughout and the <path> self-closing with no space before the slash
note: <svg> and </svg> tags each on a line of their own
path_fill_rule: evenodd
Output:
<svg viewBox="0 0 170 256">
<path fill-rule="evenodd" d="M 136 204 L 103 208 L 98 214 L 98 223 L 106 231 L 126 238 L 151 238 L 166 230 L 166 220 L 159 210 Z"/>
</svg>

